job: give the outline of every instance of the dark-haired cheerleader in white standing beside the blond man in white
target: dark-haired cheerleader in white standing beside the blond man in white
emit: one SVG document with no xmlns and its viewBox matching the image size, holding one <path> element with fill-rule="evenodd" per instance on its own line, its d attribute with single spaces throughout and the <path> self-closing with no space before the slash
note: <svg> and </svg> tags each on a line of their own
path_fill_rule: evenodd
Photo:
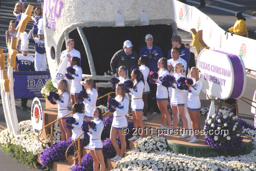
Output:
<svg viewBox="0 0 256 171">
<path fill-rule="evenodd" d="M 76 70 L 75 74 L 68 73 L 70 76 L 72 76 L 74 79 L 71 80 L 71 88 L 70 88 L 70 94 L 71 94 L 71 102 L 72 104 L 78 102 L 77 100 L 77 94 L 80 93 L 80 91 L 83 90 L 81 86 L 81 80 L 82 80 L 82 68 L 80 66 L 80 60 L 78 57 L 72 57 L 70 60 L 70 66 L 73 66 L 73 68 Z"/>
</svg>

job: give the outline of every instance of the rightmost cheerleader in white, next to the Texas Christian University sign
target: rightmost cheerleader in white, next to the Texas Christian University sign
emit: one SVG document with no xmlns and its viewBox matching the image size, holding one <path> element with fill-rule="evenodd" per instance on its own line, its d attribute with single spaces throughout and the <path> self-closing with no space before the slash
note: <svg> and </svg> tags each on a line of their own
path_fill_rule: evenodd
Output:
<svg viewBox="0 0 256 171">
<path fill-rule="evenodd" d="M 192 67 L 190 70 L 190 77 L 193 79 L 194 85 L 186 84 L 189 87 L 188 95 L 188 111 L 189 116 L 192 121 L 193 130 L 200 130 L 199 124 L 199 111 L 201 109 L 201 102 L 199 99 L 199 94 L 202 88 L 202 82 L 199 80 L 199 69 L 196 67 Z M 188 138 L 189 142 L 199 142 L 199 135 L 192 135 Z"/>
</svg>

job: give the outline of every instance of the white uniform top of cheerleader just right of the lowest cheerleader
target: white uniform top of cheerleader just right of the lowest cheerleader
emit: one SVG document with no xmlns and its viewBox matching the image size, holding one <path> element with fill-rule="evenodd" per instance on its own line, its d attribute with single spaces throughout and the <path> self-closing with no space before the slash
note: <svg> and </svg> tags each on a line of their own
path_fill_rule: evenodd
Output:
<svg viewBox="0 0 256 171">
<path fill-rule="evenodd" d="M 129 100 L 127 97 L 124 97 L 123 101 L 121 102 L 122 95 L 118 95 L 115 97 L 115 100 L 119 102 L 119 106 L 116 107 L 116 111 L 114 112 L 114 117 L 116 116 L 125 116 L 128 113 L 129 108 Z"/>
</svg>

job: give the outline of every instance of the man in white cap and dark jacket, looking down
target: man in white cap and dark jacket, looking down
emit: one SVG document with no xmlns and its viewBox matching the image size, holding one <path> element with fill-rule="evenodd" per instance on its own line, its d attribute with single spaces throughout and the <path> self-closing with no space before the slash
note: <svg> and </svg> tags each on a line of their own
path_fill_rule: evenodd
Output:
<svg viewBox="0 0 256 171">
<path fill-rule="evenodd" d="M 130 40 L 124 42 L 123 49 L 117 51 L 111 59 L 111 70 L 117 77 L 117 68 L 125 66 L 128 70 L 128 76 L 131 78 L 131 66 L 137 65 L 139 56 L 135 51 L 132 51 L 132 44 Z"/>
</svg>

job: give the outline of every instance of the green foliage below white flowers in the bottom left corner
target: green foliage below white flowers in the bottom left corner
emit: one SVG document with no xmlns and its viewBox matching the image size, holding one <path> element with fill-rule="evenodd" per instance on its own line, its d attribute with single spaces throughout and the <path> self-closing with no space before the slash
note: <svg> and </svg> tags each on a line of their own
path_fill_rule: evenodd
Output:
<svg viewBox="0 0 256 171">
<path fill-rule="evenodd" d="M 38 163 L 37 155 L 34 155 L 32 152 L 24 152 L 25 150 L 21 145 L 14 145 L 11 143 L 8 143 L 7 145 L 1 144 L 0 149 L 20 163 L 31 165 L 35 168 L 38 168 L 38 166 L 41 165 Z"/>
</svg>

